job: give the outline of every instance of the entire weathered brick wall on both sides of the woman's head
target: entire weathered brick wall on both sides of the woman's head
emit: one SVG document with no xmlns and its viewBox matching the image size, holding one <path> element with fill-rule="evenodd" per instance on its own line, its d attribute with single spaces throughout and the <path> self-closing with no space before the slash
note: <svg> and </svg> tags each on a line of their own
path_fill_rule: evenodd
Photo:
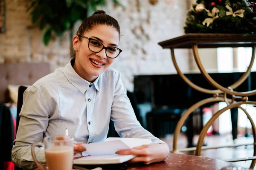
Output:
<svg viewBox="0 0 256 170">
<path fill-rule="evenodd" d="M 128 90 L 133 90 L 133 77 L 139 74 L 175 73 L 170 50 L 157 43 L 183 35 L 187 0 L 120 0 L 122 7 L 102 8 L 116 18 L 121 27 L 119 47 L 122 54 L 112 67 L 119 70 Z M 49 62 L 51 70 L 64 66 L 69 56 L 68 33 L 53 37 L 45 47 L 42 31 L 32 25 L 26 0 L 6 0 L 6 32 L 0 34 L 0 62 Z M 79 23 L 76 24 L 75 31 Z M 176 51 L 177 62 L 183 71 L 189 69 L 188 51 Z"/>
</svg>

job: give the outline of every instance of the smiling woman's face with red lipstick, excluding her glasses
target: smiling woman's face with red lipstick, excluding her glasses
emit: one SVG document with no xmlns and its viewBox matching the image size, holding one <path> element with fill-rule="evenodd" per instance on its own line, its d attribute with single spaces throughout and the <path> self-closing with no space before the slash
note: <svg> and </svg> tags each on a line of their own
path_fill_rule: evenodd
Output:
<svg viewBox="0 0 256 170">
<path fill-rule="evenodd" d="M 116 28 L 107 25 L 99 25 L 83 34 L 85 37 L 93 38 L 102 42 L 105 47 L 117 47 L 119 43 L 119 34 Z M 73 48 L 76 51 L 76 60 L 73 66 L 74 70 L 83 79 L 93 82 L 99 74 L 103 73 L 112 64 L 114 59 L 106 56 L 106 50 L 96 53 L 88 48 L 89 40 L 73 37 Z"/>
</svg>

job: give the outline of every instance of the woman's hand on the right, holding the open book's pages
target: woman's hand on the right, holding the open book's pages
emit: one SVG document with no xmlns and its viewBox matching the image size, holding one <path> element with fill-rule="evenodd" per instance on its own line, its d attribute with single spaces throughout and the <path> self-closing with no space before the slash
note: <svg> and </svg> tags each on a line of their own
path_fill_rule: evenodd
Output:
<svg viewBox="0 0 256 170">
<path fill-rule="evenodd" d="M 151 164 L 160 162 L 169 155 L 169 147 L 165 143 L 144 144 L 134 147 L 131 150 L 119 150 L 116 154 L 119 155 L 135 155 L 136 157 L 128 161 L 129 163 L 143 162 L 144 164 Z"/>
</svg>

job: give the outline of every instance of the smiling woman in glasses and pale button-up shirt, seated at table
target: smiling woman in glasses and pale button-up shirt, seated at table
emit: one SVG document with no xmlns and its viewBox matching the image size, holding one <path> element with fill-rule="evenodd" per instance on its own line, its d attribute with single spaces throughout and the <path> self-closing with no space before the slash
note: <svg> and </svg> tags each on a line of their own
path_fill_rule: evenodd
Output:
<svg viewBox="0 0 256 170">
<path fill-rule="evenodd" d="M 12 148 L 12 161 L 18 167 L 35 169 L 32 143 L 42 142 L 44 136 L 61 136 L 66 128 L 75 140 L 75 157 L 87 155 L 81 144 L 105 141 L 110 119 L 120 137 L 152 142 L 130 150 L 119 148 L 117 154 L 135 155 L 130 162 L 145 164 L 169 156 L 169 146 L 137 121 L 121 74 L 110 67 L 122 51 L 119 40 L 117 20 L 105 11 L 94 12 L 73 37 L 74 53 L 67 65 L 26 89 Z M 35 157 L 45 164 L 44 149 L 36 149 Z"/>
</svg>

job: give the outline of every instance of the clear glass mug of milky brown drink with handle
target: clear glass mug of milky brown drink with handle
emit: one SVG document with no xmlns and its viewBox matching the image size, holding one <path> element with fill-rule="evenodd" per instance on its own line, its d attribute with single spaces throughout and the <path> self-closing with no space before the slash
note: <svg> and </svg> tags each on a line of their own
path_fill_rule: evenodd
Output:
<svg viewBox="0 0 256 170">
<path fill-rule="evenodd" d="M 58 138 L 58 139 L 57 139 Z M 47 136 L 44 142 L 34 142 L 32 144 L 32 158 L 41 170 L 72 170 L 74 146 L 73 138 L 68 136 L 58 137 Z M 61 140 L 60 140 L 61 139 Z M 35 156 L 35 147 L 44 147 L 46 166 L 40 164 Z"/>
</svg>

